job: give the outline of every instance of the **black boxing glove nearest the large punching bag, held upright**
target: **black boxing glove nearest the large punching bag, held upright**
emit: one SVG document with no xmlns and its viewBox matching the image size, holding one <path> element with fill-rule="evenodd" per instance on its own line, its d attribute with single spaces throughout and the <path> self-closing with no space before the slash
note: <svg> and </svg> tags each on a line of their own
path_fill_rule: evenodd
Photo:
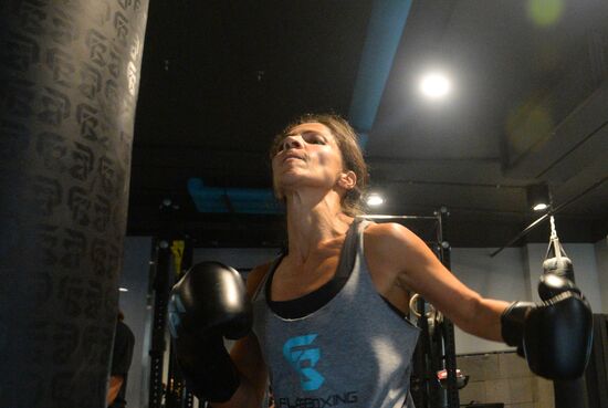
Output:
<svg viewBox="0 0 608 408">
<path fill-rule="evenodd" d="M 219 262 L 193 265 L 169 297 L 169 331 L 186 385 L 202 400 L 228 401 L 240 376 L 223 346 L 251 329 L 252 310 L 239 272 Z"/>
</svg>

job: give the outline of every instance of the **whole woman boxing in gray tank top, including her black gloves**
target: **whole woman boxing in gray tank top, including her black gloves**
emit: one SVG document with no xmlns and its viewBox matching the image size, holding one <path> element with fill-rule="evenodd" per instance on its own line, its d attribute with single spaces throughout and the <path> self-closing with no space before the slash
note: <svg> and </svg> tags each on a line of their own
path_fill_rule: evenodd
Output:
<svg viewBox="0 0 608 408">
<path fill-rule="evenodd" d="M 551 305 L 484 299 L 407 228 L 356 218 L 367 170 L 344 119 L 298 119 L 275 138 L 271 157 L 274 190 L 286 207 L 289 245 L 248 278 L 252 333 L 229 357 L 221 337 L 249 329 L 249 310 L 233 290 L 238 273 L 223 265 L 191 273 L 170 302 L 185 376 L 213 407 L 258 408 L 269 379 L 277 408 L 408 406 L 418 337 L 405 318 L 410 293 L 420 293 L 465 332 L 513 346 L 522 345 L 530 315 L 552 313 Z M 566 282 L 552 287 L 552 294 L 575 291 Z M 195 295 L 205 302 L 192 301 Z M 541 338 L 541 326 L 525 335 Z M 526 349 L 526 356 L 534 353 L 542 351 Z"/>
</svg>

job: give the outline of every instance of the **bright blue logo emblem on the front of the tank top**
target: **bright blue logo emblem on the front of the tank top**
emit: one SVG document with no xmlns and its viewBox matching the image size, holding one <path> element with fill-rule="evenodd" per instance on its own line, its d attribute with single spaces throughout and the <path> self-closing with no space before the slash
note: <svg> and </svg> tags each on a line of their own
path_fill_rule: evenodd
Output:
<svg viewBox="0 0 608 408">
<path fill-rule="evenodd" d="M 292 337 L 283 345 L 283 356 L 300 375 L 300 385 L 305 391 L 318 389 L 325 377 L 314 366 L 321 358 L 321 348 L 312 346 L 317 334 Z"/>
</svg>

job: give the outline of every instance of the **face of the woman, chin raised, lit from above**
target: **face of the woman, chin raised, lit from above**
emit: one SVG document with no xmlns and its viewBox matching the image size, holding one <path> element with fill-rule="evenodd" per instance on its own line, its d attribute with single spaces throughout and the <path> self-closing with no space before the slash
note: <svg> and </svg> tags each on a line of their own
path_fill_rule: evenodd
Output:
<svg viewBox="0 0 608 408">
<path fill-rule="evenodd" d="M 316 122 L 293 127 L 272 159 L 272 174 L 279 198 L 302 187 L 333 188 L 343 160 L 329 128 Z"/>
</svg>

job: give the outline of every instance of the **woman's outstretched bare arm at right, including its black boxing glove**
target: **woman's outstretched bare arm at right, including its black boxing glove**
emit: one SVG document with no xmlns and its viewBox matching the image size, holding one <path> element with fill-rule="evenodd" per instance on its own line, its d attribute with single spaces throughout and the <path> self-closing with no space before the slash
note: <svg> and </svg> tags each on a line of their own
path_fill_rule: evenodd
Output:
<svg viewBox="0 0 608 408">
<path fill-rule="evenodd" d="M 418 292 L 465 332 L 522 347 L 539 376 L 575 379 L 585 373 L 593 312 L 573 282 L 544 275 L 539 304 L 485 299 L 462 284 L 415 233 L 399 224 L 380 226 L 371 242 L 376 259 L 388 260 L 387 273 L 380 273 L 385 287 Z M 405 290 L 401 294 L 407 296 Z"/>
</svg>

